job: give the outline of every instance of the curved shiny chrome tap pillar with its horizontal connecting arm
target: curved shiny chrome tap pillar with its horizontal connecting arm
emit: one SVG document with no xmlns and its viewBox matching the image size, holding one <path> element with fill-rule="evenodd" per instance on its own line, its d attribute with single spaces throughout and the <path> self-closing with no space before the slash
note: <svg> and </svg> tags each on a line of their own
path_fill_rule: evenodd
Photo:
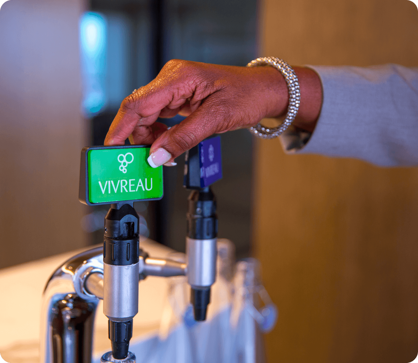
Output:
<svg viewBox="0 0 418 363">
<path fill-rule="evenodd" d="M 150 258 L 140 250 L 139 276 L 184 276 L 186 264 Z M 93 326 L 103 299 L 103 246 L 90 248 L 59 266 L 43 290 L 41 363 L 91 363 Z"/>
</svg>

